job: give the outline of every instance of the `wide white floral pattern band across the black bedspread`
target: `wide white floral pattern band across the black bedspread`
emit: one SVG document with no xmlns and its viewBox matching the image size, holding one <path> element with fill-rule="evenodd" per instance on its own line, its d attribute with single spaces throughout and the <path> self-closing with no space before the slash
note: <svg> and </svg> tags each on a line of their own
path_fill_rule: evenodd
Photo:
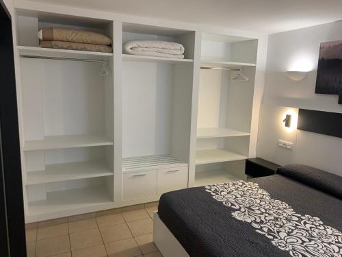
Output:
<svg viewBox="0 0 342 257">
<path fill-rule="evenodd" d="M 324 225 L 319 217 L 299 214 L 284 201 L 272 199 L 257 183 L 238 181 L 205 188 L 213 199 L 233 209 L 232 217 L 250 223 L 291 256 L 342 256 L 339 230 Z"/>
</svg>

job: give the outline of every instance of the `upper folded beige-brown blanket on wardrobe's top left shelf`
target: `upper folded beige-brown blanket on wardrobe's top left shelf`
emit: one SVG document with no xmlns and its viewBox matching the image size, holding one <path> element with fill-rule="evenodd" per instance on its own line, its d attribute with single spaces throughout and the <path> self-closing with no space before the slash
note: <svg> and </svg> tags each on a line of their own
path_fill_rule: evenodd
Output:
<svg viewBox="0 0 342 257">
<path fill-rule="evenodd" d="M 111 38 L 96 32 L 87 32 L 79 29 L 66 29 L 58 27 L 44 27 L 38 32 L 42 41 L 79 42 L 95 45 L 111 45 Z"/>
</svg>

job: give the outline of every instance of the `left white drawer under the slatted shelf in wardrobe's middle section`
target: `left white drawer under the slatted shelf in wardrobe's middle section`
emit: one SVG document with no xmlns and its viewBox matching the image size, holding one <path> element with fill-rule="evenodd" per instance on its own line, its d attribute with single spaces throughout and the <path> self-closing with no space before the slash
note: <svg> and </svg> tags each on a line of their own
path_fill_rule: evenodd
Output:
<svg viewBox="0 0 342 257">
<path fill-rule="evenodd" d="M 157 194 L 157 170 L 122 175 L 122 199 L 128 200 Z"/>
</svg>

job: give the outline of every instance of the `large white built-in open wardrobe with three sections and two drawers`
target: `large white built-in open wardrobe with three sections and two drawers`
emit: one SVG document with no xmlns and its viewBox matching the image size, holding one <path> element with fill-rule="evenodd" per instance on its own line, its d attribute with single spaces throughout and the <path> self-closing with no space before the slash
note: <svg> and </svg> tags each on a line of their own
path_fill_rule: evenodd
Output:
<svg viewBox="0 0 342 257">
<path fill-rule="evenodd" d="M 58 10 L 16 7 L 27 223 L 243 178 L 257 38 Z M 114 51 L 42 49 L 42 27 L 106 34 Z M 179 42 L 185 58 L 124 54 L 130 40 Z"/>
</svg>

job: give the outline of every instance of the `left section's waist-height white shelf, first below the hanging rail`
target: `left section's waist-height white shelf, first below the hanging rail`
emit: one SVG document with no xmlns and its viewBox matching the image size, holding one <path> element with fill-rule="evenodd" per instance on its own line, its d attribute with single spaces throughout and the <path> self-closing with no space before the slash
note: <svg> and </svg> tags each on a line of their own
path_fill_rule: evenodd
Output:
<svg viewBox="0 0 342 257">
<path fill-rule="evenodd" d="M 44 136 L 42 140 L 28 140 L 24 143 L 24 151 L 60 149 L 73 147 L 94 147 L 114 145 L 113 141 L 103 135 L 68 135 Z"/>
</svg>

